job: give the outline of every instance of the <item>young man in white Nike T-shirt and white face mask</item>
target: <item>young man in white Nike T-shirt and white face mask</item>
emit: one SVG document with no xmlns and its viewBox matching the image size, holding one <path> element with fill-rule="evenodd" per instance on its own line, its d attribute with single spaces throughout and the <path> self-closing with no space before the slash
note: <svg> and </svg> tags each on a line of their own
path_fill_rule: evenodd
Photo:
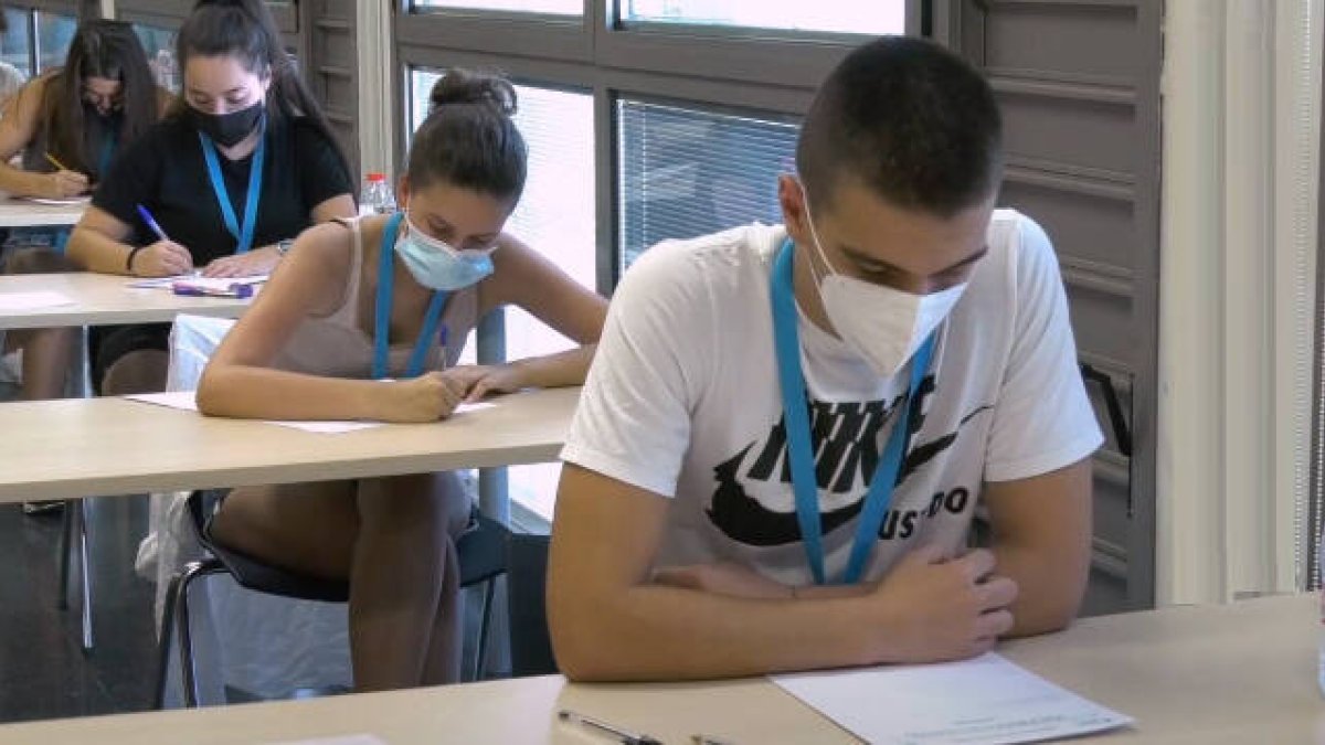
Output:
<svg viewBox="0 0 1325 745">
<path fill-rule="evenodd" d="M 867 44 L 796 167 L 784 227 L 652 248 L 612 301 L 549 565 L 574 679 L 961 659 L 1077 612 L 1101 435 L 1048 237 L 994 209 L 988 85 Z"/>
</svg>

